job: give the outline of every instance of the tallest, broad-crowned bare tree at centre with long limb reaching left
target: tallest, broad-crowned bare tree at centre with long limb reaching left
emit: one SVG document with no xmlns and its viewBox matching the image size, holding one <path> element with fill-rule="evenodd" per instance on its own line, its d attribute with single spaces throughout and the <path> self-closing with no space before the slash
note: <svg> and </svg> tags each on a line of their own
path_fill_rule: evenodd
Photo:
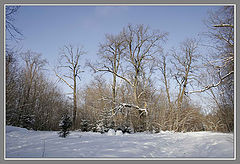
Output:
<svg viewBox="0 0 240 164">
<path fill-rule="evenodd" d="M 150 76 L 146 77 L 146 75 L 150 75 L 153 71 L 153 67 L 155 66 L 155 55 L 161 50 L 160 44 L 161 42 L 165 41 L 167 33 L 162 33 L 157 30 L 150 30 L 149 27 L 144 27 L 144 25 L 128 25 L 123 29 L 121 35 L 120 43 L 125 46 L 122 48 L 122 51 L 124 50 L 125 61 L 123 65 L 127 70 L 126 74 L 128 74 L 128 76 L 116 72 L 116 69 L 114 69 L 114 64 L 110 67 L 104 65 L 102 69 L 95 68 L 95 71 L 110 72 L 114 75 L 114 77 L 118 77 L 127 82 L 133 89 L 134 104 L 139 106 L 139 98 L 144 93 L 144 91 L 138 91 L 140 77 L 142 77 L 144 80 L 150 79 Z M 118 50 L 116 47 L 111 49 L 109 46 L 107 52 L 109 52 L 109 48 L 113 54 L 119 52 L 116 51 Z M 111 63 L 114 63 L 112 58 L 108 57 L 108 59 L 110 59 Z M 119 66 L 118 59 L 115 61 L 117 61 L 116 64 Z M 144 84 L 145 86 L 147 85 L 146 81 Z"/>
</svg>

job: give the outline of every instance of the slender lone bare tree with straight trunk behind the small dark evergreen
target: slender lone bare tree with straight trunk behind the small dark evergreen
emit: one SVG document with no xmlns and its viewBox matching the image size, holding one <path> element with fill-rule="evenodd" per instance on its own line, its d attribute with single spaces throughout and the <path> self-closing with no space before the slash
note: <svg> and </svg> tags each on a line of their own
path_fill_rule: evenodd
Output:
<svg viewBox="0 0 240 164">
<path fill-rule="evenodd" d="M 80 73 L 83 72 L 80 65 L 80 57 L 85 53 L 82 48 L 74 49 L 72 45 L 64 46 L 60 51 L 59 63 L 57 71 L 55 71 L 59 80 L 64 82 L 73 91 L 73 128 L 76 128 L 77 79 L 80 80 Z"/>
</svg>

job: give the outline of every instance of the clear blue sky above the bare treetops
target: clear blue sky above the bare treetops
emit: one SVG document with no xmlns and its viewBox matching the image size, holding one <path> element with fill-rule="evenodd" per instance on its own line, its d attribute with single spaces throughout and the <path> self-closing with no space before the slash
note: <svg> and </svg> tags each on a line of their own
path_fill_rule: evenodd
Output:
<svg viewBox="0 0 240 164">
<path fill-rule="evenodd" d="M 98 45 L 105 34 L 116 34 L 131 24 L 149 25 L 151 29 L 168 32 L 165 51 L 177 47 L 188 37 L 206 31 L 203 20 L 216 6 L 21 6 L 14 24 L 24 39 L 12 46 L 22 51 L 41 53 L 56 64 L 59 49 L 66 44 L 83 46 L 87 55 L 81 61 L 96 60 Z M 89 73 L 82 79 L 89 79 Z M 86 81 L 86 80 L 85 80 Z"/>
</svg>

